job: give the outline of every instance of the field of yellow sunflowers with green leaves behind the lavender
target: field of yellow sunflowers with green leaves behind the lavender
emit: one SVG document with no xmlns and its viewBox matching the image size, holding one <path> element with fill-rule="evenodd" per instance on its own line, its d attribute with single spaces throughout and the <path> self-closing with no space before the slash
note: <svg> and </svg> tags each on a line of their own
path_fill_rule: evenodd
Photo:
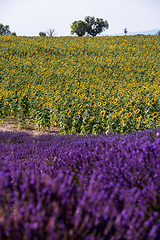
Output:
<svg viewBox="0 0 160 240">
<path fill-rule="evenodd" d="M 160 37 L 0 36 L 0 119 L 61 133 L 160 125 Z"/>
</svg>

